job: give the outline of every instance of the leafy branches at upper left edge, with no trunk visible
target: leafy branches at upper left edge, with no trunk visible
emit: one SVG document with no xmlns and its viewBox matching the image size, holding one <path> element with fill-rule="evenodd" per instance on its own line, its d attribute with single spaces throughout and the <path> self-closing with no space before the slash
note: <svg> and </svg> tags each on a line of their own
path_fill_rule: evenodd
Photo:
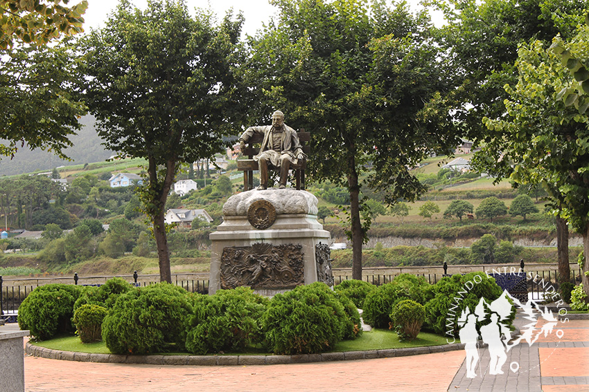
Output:
<svg viewBox="0 0 589 392">
<path fill-rule="evenodd" d="M 78 118 L 86 113 L 74 91 L 82 77 L 69 41 L 44 44 L 59 37 L 60 30 L 81 31 L 78 14 L 87 1 L 73 8 L 49 3 L 48 8 L 44 1 L 0 1 L 0 132 L 6 140 L 0 156 L 11 156 L 26 144 L 67 158 L 62 150 L 71 146 L 68 136 L 80 129 Z M 14 44 L 13 37 L 26 43 Z"/>
</svg>

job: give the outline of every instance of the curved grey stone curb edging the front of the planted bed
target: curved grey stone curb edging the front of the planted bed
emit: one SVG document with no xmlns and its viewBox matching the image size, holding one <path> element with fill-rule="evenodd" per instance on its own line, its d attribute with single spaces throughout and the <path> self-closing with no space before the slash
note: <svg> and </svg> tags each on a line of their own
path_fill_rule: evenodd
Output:
<svg viewBox="0 0 589 392">
<path fill-rule="evenodd" d="M 344 351 L 341 353 L 321 353 L 303 355 L 116 355 L 72 353 L 58 351 L 26 343 L 25 353 L 33 357 L 50 360 L 96 362 L 109 364 L 150 364 L 150 365 L 188 365 L 188 366 L 247 366 L 303 364 L 309 362 L 333 362 L 372 360 L 376 358 L 405 357 L 457 351 L 464 349 L 464 344 L 444 344 L 443 346 L 389 348 L 371 351 Z"/>
</svg>

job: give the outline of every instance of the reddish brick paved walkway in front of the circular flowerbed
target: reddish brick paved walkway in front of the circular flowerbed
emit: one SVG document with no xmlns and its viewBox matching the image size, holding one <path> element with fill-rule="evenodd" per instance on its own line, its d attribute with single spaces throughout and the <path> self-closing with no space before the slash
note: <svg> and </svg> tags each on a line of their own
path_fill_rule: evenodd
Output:
<svg viewBox="0 0 589 392">
<path fill-rule="evenodd" d="M 6 326 L 0 326 L 7 328 Z M 561 339 L 556 337 L 562 330 Z M 261 366 L 96 364 L 25 357 L 28 392 L 48 391 L 589 391 L 589 320 L 559 323 L 509 352 L 504 375 L 466 378 L 464 351 L 375 360 Z M 518 362 L 520 371 L 509 370 Z"/>
</svg>

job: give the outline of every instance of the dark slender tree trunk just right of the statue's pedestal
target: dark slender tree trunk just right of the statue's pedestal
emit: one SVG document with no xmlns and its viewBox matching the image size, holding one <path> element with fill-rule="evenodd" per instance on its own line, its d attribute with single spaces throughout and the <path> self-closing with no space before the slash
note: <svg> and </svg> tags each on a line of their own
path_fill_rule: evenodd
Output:
<svg viewBox="0 0 589 392">
<path fill-rule="evenodd" d="M 348 168 L 348 189 L 350 191 L 350 223 L 352 232 L 352 279 L 362 280 L 362 223 L 360 222 L 360 186 L 355 169 L 355 155 L 350 154 Z"/>
</svg>

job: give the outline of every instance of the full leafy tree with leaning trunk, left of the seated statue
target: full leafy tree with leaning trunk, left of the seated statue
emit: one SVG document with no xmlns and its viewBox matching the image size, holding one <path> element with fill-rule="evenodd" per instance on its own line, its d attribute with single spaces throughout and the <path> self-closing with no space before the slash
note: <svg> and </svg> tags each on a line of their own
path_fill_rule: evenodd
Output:
<svg viewBox="0 0 589 392">
<path fill-rule="evenodd" d="M 121 0 L 105 28 L 83 47 L 89 77 L 87 101 L 107 148 L 146 158 L 139 188 L 153 223 L 161 281 L 171 282 L 164 207 L 180 165 L 222 150 L 243 110 L 234 69 L 240 59 L 243 17 L 228 14 L 220 26 L 183 0 L 148 2 L 145 11 Z"/>
</svg>

